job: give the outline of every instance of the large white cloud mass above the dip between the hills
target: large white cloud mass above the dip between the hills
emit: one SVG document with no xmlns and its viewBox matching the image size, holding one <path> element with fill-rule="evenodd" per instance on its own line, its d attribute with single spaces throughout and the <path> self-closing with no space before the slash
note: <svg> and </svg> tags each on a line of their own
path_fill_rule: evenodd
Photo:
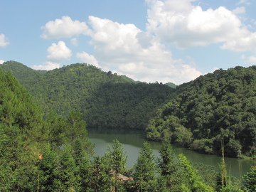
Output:
<svg viewBox="0 0 256 192">
<path fill-rule="evenodd" d="M 103 70 L 113 71 L 146 82 L 181 84 L 201 75 L 195 68 L 174 60 L 164 44 L 133 24 L 89 17 L 95 58 Z"/>
</svg>

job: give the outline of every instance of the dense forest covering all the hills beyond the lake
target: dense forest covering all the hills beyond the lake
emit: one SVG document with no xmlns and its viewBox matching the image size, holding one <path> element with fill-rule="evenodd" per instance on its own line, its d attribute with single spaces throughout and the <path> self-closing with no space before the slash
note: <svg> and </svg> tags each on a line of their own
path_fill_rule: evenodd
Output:
<svg viewBox="0 0 256 192">
<path fill-rule="evenodd" d="M 81 113 L 88 128 L 142 129 L 154 141 L 205 154 L 255 158 L 256 67 L 215 70 L 172 87 L 104 72 L 85 63 L 46 71 L 21 63 L 0 65 L 26 87 L 44 118 Z"/>
</svg>

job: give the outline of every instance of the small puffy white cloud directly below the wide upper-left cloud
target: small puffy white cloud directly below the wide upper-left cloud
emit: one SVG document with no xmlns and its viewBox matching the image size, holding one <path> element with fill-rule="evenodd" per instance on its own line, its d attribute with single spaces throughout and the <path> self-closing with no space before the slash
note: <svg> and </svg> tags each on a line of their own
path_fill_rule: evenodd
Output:
<svg viewBox="0 0 256 192">
<path fill-rule="evenodd" d="M 72 55 L 72 51 L 65 46 L 65 42 L 59 41 L 58 44 L 52 43 L 47 49 L 47 59 L 51 61 L 61 61 L 69 59 Z"/>
</svg>

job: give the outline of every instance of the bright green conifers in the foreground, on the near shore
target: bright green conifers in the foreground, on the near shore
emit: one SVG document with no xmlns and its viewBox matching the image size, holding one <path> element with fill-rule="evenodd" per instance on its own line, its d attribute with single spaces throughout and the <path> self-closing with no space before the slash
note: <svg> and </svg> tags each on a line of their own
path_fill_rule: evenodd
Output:
<svg viewBox="0 0 256 192">
<path fill-rule="evenodd" d="M 156 159 L 144 143 L 136 164 L 114 140 L 104 156 L 93 156 L 82 114 L 43 114 L 11 73 L 0 69 L 0 191 L 255 191 L 256 168 L 230 178 L 225 163 L 191 164 L 165 139 Z"/>
</svg>

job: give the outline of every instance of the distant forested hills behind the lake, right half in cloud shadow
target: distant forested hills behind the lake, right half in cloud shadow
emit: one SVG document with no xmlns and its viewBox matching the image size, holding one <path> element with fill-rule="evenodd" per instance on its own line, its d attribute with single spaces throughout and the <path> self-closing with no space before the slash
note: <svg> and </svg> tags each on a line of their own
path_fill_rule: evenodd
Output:
<svg viewBox="0 0 256 192">
<path fill-rule="evenodd" d="M 93 65 L 73 64 L 43 74 L 21 63 L 0 65 L 23 84 L 48 114 L 82 113 L 88 127 L 145 129 L 156 109 L 172 97 L 174 88 L 161 83 L 134 82 Z"/>
</svg>

